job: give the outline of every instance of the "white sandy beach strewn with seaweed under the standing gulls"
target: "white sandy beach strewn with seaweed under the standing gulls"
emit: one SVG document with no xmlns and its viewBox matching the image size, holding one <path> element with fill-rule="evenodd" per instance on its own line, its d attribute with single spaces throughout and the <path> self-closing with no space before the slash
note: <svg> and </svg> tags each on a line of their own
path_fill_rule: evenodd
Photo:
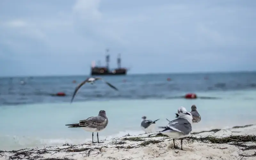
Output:
<svg viewBox="0 0 256 160">
<path fill-rule="evenodd" d="M 204 159 L 256 159 L 256 125 L 219 129 L 212 132 L 191 134 L 183 140 L 183 149 L 180 150 L 180 140 L 175 140 L 173 148 L 171 138 L 156 136 L 156 133 L 137 136 L 123 136 L 112 140 L 103 140 L 104 143 L 88 142 L 87 144 L 46 147 L 41 149 L 23 149 L 20 151 L 0 151 L 0 160 L 4 159 L 77 159 L 77 160 L 204 160 Z M 212 143 L 209 139 L 222 138 L 230 140 L 236 135 L 251 135 L 251 140 L 240 140 L 231 143 Z M 149 137 L 148 137 L 149 136 Z M 213 137 L 209 137 L 213 136 Z M 200 139 L 201 137 L 201 139 Z M 202 138 L 208 137 L 207 140 Z M 227 138 L 228 137 L 228 138 Z M 239 136 L 239 138 L 250 136 Z M 214 138 L 214 140 L 215 140 Z M 255 139 L 254 139 L 255 138 Z M 216 139 L 217 140 L 217 139 Z M 245 142 L 246 141 L 246 142 Z M 217 141 L 216 141 L 217 142 Z M 239 143 L 238 143 L 239 142 Z"/>
</svg>

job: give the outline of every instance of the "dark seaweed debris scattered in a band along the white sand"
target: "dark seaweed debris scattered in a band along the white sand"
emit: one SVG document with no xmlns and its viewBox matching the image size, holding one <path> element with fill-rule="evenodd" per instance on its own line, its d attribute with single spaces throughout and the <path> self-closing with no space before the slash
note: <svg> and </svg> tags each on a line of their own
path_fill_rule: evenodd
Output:
<svg viewBox="0 0 256 160">
<path fill-rule="evenodd" d="M 256 142 L 256 135 L 230 135 L 228 137 L 214 137 L 214 136 L 201 136 L 201 137 L 184 137 L 183 138 L 191 140 L 192 142 L 198 141 L 199 143 L 213 144 L 212 148 L 226 150 L 228 147 L 218 145 L 218 144 L 228 144 L 234 145 L 241 149 L 241 152 L 238 155 L 241 157 L 247 156 L 256 156 L 256 154 L 246 153 L 246 150 L 254 150 L 256 149 L 256 145 L 248 144 L 247 142 Z M 133 141 L 133 142 L 132 142 Z M 145 137 L 125 137 L 113 140 L 112 142 L 105 144 L 81 144 L 81 145 L 64 145 L 64 146 L 55 146 L 55 147 L 45 147 L 45 148 L 26 148 L 20 150 L 12 150 L 12 151 L 4 151 L 0 150 L 0 157 L 4 157 L 9 160 L 20 160 L 20 159 L 28 159 L 28 160 L 37 160 L 37 159 L 50 159 L 50 160 L 73 160 L 74 154 L 81 154 L 83 157 L 90 156 L 98 156 L 106 153 L 106 148 L 118 148 L 118 149 L 131 149 L 131 148 L 139 148 L 139 147 L 150 147 L 151 145 L 156 145 L 157 148 L 167 147 L 168 141 L 166 143 L 166 138 L 162 139 L 159 137 L 148 138 Z M 61 153 L 61 154 L 59 154 Z M 66 155 L 63 157 L 63 153 Z M 175 153 L 179 153 L 179 151 L 175 151 Z M 50 158 L 45 158 L 46 155 L 51 155 Z M 60 157 L 58 157 L 60 156 Z"/>
</svg>

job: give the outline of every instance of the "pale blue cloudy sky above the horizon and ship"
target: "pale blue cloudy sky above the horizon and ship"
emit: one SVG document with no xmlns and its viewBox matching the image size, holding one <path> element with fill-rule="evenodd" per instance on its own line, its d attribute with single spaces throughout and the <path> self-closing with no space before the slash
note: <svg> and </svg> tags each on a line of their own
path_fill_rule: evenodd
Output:
<svg viewBox="0 0 256 160">
<path fill-rule="evenodd" d="M 0 1 L 0 76 L 256 70 L 255 0 Z"/>
</svg>

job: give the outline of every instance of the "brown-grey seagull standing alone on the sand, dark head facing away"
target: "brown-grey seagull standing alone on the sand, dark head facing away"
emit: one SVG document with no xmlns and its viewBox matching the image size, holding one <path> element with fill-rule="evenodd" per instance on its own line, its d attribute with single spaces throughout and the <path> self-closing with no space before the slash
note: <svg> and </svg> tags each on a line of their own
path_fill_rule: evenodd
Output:
<svg viewBox="0 0 256 160">
<path fill-rule="evenodd" d="M 72 128 L 82 128 L 85 131 L 92 132 L 92 143 L 95 143 L 93 141 L 93 132 L 97 132 L 97 139 L 99 142 L 99 134 L 98 132 L 104 130 L 108 125 L 108 117 L 106 116 L 106 112 L 104 110 L 100 110 L 98 116 L 89 117 L 85 120 L 79 121 L 79 123 L 76 124 L 66 124 L 70 125 Z"/>
</svg>

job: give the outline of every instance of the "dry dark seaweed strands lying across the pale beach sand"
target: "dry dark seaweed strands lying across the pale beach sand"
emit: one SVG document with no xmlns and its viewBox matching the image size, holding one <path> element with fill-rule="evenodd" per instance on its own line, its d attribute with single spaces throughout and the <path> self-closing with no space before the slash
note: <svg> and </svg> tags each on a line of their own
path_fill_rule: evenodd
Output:
<svg viewBox="0 0 256 160">
<path fill-rule="evenodd" d="M 157 136 L 158 137 L 158 136 Z M 117 139 L 117 140 L 113 140 L 112 143 L 110 142 L 110 146 L 114 145 L 114 146 L 102 146 L 101 148 L 99 148 L 98 145 L 95 144 L 86 144 L 87 147 L 83 147 L 84 145 L 69 145 L 69 144 L 64 144 L 63 148 L 59 148 L 59 147 L 45 147 L 42 149 L 20 149 L 20 150 L 12 150 L 12 151 L 4 151 L 4 150 L 0 150 L 0 157 L 5 157 L 6 159 L 9 160 L 21 160 L 21 159 L 28 159 L 28 160 L 37 160 L 37 159 L 41 159 L 41 160 L 46 160 L 44 159 L 44 155 L 45 154 L 55 154 L 55 153 L 60 153 L 60 152 L 64 152 L 64 153 L 74 153 L 74 152 L 79 152 L 80 154 L 83 154 L 83 156 L 90 156 L 93 154 L 96 154 L 96 156 L 98 154 L 103 154 L 102 153 L 102 148 L 124 148 L 124 149 L 131 149 L 131 148 L 138 148 L 138 147 L 145 147 L 148 146 L 149 144 L 156 144 L 158 147 L 163 147 L 165 144 L 164 143 L 160 143 L 162 141 L 164 141 L 165 138 L 161 138 L 160 140 L 148 140 L 147 137 L 131 137 L 131 138 L 123 138 L 123 139 Z M 235 136 L 235 135 L 230 135 L 228 137 L 214 137 L 214 136 L 206 136 L 206 137 L 186 137 L 183 138 L 184 140 L 191 140 L 191 141 L 198 141 L 198 142 L 203 142 L 203 143 L 214 143 L 214 144 L 230 144 L 230 145 L 235 145 L 239 148 L 241 148 L 241 150 L 251 150 L 251 149 L 256 149 L 256 145 L 246 145 L 245 142 L 256 142 L 256 136 L 255 135 L 239 135 L 239 136 Z M 127 145 L 127 143 L 125 142 L 126 140 L 129 141 L 141 141 L 140 144 L 129 144 Z M 160 143 L 160 144 L 158 144 Z M 108 144 L 108 145 L 109 145 Z M 219 149 L 225 149 L 225 148 L 219 148 Z M 245 154 L 241 154 L 240 156 L 255 156 L 256 153 L 252 154 L 252 155 L 245 155 Z M 68 154 L 69 156 L 71 156 L 71 154 Z M 49 160 L 72 160 L 70 158 L 48 158 Z"/>
</svg>

